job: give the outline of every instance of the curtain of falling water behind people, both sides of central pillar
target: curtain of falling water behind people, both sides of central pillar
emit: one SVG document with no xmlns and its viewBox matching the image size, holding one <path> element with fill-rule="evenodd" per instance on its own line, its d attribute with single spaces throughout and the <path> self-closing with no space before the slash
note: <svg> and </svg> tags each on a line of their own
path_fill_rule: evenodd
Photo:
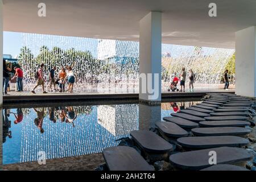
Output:
<svg viewBox="0 0 256 182">
<path fill-rule="evenodd" d="M 78 76 L 74 92 L 138 92 L 138 42 L 22 35 L 19 63 L 24 71 L 24 90 L 32 89 L 34 73 L 38 65 L 44 63 L 47 78 L 51 67 L 56 66 L 59 72 L 61 67 L 72 65 Z M 180 73 L 182 67 L 187 72 L 188 69 L 194 71 L 197 86 L 209 88 L 219 84 L 233 53 L 234 49 L 162 44 L 162 90 L 167 90 L 170 77 Z"/>
</svg>

